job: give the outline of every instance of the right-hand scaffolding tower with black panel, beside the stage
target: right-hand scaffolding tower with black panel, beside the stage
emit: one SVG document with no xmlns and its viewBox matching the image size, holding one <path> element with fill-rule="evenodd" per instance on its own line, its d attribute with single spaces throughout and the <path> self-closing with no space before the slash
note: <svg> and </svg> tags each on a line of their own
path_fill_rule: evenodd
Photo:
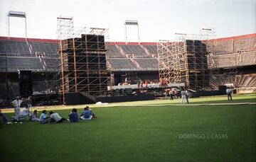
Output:
<svg viewBox="0 0 256 162">
<path fill-rule="evenodd" d="M 201 35 L 177 33 L 174 42 L 159 41 L 159 79 L 168 83 L 185 83 L 198 90 L 209 86 L 206 43 Z"/>
</svg>

